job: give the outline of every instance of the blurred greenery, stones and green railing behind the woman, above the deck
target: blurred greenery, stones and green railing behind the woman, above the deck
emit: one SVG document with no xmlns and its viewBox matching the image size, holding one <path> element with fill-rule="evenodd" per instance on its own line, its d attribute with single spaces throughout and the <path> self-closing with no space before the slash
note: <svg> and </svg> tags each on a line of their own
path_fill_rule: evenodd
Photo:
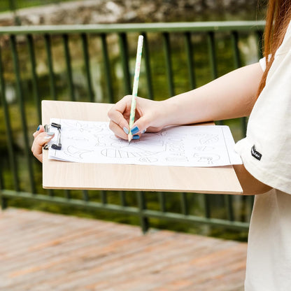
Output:
<svg viewBox="0 0 291 291">
<path fill-rule="evenodd" d="M 41 100 L 115 103 L 131 93 L 141 33 L 146 37 L 141 97 L 166 99 L 257 62 L 264 5 L 255 0 L 0 1 L 2 208 L 111 220 L 140 225 L 143 232 L 153 227 L 246 241 L 253 197 L 47 191 L 30 147 L 41 124 Z M 141 25 L 149 23 L 156 25 Z M 217 123 L 229 125 L 238 141 L 247 122 Z"/>
</svg>

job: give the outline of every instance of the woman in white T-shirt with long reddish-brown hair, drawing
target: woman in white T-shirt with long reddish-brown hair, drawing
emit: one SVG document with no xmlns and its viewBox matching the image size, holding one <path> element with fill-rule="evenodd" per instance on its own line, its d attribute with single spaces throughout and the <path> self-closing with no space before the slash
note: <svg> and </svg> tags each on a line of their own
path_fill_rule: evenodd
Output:
<svg viewBox="0 0 291 291">
<path fill-rule="evenodd" d="M 168 125 L 250 115 L 245 139 L 236 143 L 243 165 L 235 166 L 244 194 L 257 194 L 250 222 L 246 291 L 291 290 L 291 0 L 270 0 L 264 55 L 196 90 L 164 101 L 138 98 L 129 129 L 131 97 L 108 113 L 116 136 L 134 139 Z M 43 127 L 32 150 L 50 139 Z M 45 140 L 45 138 L 47 138 Z"/>
</svg>

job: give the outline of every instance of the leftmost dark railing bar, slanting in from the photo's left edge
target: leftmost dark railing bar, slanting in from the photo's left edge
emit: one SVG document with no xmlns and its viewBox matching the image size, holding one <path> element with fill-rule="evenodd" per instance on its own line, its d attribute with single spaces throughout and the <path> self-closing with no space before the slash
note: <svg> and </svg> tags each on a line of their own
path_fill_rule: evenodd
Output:
<svg viewBox="0 0 291 291">
<path fill-rule="evenodd" d="M 9 111 L 8 111 L 8 105 L 6 101 L 6 85 L 5 80 L 3 76 L 3 64 L 2 64 L 2 52 L 0 48 L 0 83 L 1 83 L 1 103 L 3 107 L 4 112 L 4 121 L 5 121 L 5 127 L 6 127 L 6 136 L 7 136 L 7 148 L 8 148 L 8 158 L 10 167 L 13 173 L 13 185 L 15 191 L 19 191 L 19 178 L 17 175 L 17 162 L 15 159 L 15 155 L 13 152 L 13 135 L 12 135 L 12 129 L 10 124 L 10 117 L 9 117 Z"/>
</svg>

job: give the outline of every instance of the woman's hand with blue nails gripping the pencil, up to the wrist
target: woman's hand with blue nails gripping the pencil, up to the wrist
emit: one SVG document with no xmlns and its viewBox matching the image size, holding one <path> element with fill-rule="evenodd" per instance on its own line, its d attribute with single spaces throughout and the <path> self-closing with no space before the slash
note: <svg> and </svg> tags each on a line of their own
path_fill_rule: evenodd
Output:
<svg viewBox="0 0 291 291">
<path fill-rule="evenodd" d="M 135 122 L 132 129 L 129 129 L 130 108 L 132 95 L 123 97 L 110 111 L 109 128 L 115 136 L 121 139 L 128 139 L 129 130 L 132 130 L 133 139 L 139 139 L 143 132 L 159 132 L 166 124 L 165 108 L 162 101 L 152 101 L 137 97 Z"/>
</svg>

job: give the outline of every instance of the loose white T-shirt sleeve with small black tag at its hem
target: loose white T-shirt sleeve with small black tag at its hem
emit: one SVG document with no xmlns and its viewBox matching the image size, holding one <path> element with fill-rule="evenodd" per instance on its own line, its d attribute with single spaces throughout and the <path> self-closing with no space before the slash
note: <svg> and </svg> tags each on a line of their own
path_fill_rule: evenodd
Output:
<svg viewBox="0 0 291 291">
<path fill-rule="evenodd" d="M 235 150 L 257 180 L 291 194 L 291 50 L 281 51 Z M 260 64 L 264 70 L 264 59 Z"/>
</svg>

